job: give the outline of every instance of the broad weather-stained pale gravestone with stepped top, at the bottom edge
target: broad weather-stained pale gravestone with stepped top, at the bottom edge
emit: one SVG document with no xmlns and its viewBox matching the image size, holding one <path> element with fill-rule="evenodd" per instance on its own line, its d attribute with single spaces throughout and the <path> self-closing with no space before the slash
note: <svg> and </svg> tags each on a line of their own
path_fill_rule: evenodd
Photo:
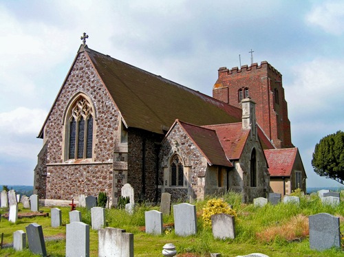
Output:
<svg viewBox="0 0 344 257">
<path fill-rule="evenodd" d="M 98 230 L 98 256 L 133 257 L 133 234 L 114 227 Z"/>
</svg>

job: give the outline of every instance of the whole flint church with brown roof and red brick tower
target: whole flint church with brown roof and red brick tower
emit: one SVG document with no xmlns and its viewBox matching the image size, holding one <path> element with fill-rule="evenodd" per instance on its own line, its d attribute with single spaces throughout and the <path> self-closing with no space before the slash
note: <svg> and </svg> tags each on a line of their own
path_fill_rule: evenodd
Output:
<svg viewBox="0 0 344 257">
<path fill-rule="evenodd" d="M 297 151 L 279 71 L 262 62 L 218 72 L 210 97 L 81 45 L 39 132 L 34 192 L 64 200 L 106 192 L 116 205 L 125 183 L 136 201 L 235 190 L 250 202 L 273 188 L 305 190 L 302 165 L 275 172 L 285 170 L 276 159 Z"/>
</svg>

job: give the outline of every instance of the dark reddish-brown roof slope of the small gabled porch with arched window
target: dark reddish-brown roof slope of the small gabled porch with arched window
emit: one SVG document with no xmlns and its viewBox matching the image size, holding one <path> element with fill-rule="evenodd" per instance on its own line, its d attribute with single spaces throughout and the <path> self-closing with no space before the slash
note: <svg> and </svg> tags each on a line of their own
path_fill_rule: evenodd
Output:
<svg viewBox="0 0 344 257">
<path fill-rule="evenodd" d="M 201 150 L 210 165 L 233 167 L 228 161 L 216 132 L 200 126 L 176 120 L 184 131 L 191 137 L 195 145 Z"/>
</svg>

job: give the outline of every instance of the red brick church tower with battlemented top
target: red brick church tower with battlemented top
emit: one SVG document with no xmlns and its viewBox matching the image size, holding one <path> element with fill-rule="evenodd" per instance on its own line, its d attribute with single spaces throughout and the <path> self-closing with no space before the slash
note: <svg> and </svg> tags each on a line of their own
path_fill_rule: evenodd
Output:
<svg viewBox="0 0 344 257">
<path fill-rule="evenodd" d="M 256 102 L 257 123 L 277 148 L 294 147 L 291 141 L 288 104 L 284 98 L 282 75 L 268 62 L 227 69 L 219 68 L 213 98 L 235 107 L 241 100 Z"/>
</svg>

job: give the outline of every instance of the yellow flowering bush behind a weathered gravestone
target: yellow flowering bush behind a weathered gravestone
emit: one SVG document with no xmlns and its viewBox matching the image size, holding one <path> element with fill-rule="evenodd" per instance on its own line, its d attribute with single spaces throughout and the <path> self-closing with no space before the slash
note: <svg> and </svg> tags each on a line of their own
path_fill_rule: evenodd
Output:
<svg viewBox="0 0 344 257">
<path fill-rule="evenodd" d="M 229 214 L 232 216 L 237 216 L 237 212 L 230 208 L 228 203 L 226 203 L 222 199 L 210 199 L 206 202 L 206 207 L 203 208 L 202 212 L 202 220 L 204 227 L 210 227 L 211 226 L 211 215 L 214 214 Z"/>
</svg>

